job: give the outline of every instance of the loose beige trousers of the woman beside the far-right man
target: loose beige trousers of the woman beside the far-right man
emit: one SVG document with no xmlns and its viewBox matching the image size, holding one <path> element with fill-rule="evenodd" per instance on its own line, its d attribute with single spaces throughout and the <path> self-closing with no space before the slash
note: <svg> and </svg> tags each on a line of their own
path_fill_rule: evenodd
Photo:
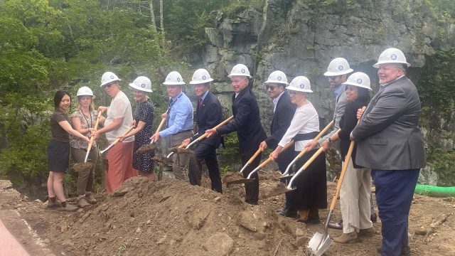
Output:
<svg viewBox="0 0 455 256">
<path fill-rule="evenodd" d="M 344 165 L 344 162 L 343 162 Z M 370 220 L 371 169 L 354 169 L 352 159 L 340 190 L 343 233 L 373 227 Z"/>
</svg>

